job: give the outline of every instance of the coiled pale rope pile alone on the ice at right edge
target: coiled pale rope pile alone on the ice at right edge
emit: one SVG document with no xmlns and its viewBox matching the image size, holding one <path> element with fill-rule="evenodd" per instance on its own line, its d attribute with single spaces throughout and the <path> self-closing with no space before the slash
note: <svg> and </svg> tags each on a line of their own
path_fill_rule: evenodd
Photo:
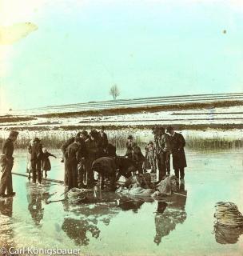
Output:
<svg viewBox="0 0 243 256">
<path fill-rule="evenodd" d="M 230 226 L 243 226 L 243 216 L 233 202 L 217 202 L 214 217 L 217 223 Z"/>
</svg>

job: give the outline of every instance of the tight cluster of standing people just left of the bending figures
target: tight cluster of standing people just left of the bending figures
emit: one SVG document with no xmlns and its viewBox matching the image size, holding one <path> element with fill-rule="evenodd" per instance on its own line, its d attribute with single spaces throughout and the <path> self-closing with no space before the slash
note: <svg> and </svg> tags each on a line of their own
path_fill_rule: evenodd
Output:
<svg viewBox="0 0 243 256">
<path fill-rule="evenodd" d="M 65 166 L 64 184 L 70 190 L 82 186 L 84 174 L 89 186 L 94 185 L 93 163 L 105 156 L 115 157 L 115 147 L 109 144 L 105 127 L 100 131 L 86 130 L 78 132 L 74 138 L 68 139 L 61 147 Z M 87 184 L 86 184 L 87 185 Z"/>
</svg>

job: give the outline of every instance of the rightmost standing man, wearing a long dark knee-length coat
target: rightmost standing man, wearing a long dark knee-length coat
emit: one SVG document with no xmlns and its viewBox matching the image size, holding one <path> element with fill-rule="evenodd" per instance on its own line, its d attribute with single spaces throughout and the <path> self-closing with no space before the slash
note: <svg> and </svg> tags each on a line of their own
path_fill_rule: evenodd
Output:
<svg viewBox="0 0 243 256">
<path fill-rule="evenodd" d="M 167 133 L 170 135 L 170 147 L 173 158 L 173 170 L 177 178 L 181 179 L 181 183 L 184 183 L 185 177 L 185 138 L 182 134 L 178 134 L 174 131 L 172 126 L 167 127 Z"/>
</svg>

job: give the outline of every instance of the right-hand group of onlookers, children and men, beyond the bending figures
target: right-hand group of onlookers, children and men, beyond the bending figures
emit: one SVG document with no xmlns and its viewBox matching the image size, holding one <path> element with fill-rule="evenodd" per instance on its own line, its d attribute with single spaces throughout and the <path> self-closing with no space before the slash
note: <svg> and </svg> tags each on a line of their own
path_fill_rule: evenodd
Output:
<svg viewBox="0 0 243 256">
<path fill-rule="evenodd" d="M 176 133 L 172 126 L 165 128 L 162 126 L 153 127 L 154 141 L 150 141 L 145 146 L 145 156 L 141 149 L 134 142 L 133 136 L 129 135 L 126 142 L 127 158 L 137 162 L 137 170 L 140 174 L 146 169 L 151 169 L 151 173 L 156 173 L 158 169 L 158 180 L 170 174 L 170 158 L 173 158 L 173 169 L 175 176 L 184 182 L 185 177 L 185 138 L 182 134 Z"/>
</svg>

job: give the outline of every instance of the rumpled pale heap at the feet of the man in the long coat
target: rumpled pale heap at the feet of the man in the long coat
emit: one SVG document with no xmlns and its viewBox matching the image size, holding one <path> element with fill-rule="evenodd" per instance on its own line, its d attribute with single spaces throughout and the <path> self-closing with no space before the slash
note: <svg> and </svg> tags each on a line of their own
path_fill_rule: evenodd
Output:
<svg viewBox="0 0 243 256">
<path fill-rule="evenodd" d="M 173 192 L 177 192 L 178 182 L 177 178 L 174 175 L 168 176 L 165 179 L 161 180 L 157 184 L 157 190 L 152 194 L 153 197 L 170 195 Z"/>
</svg>

